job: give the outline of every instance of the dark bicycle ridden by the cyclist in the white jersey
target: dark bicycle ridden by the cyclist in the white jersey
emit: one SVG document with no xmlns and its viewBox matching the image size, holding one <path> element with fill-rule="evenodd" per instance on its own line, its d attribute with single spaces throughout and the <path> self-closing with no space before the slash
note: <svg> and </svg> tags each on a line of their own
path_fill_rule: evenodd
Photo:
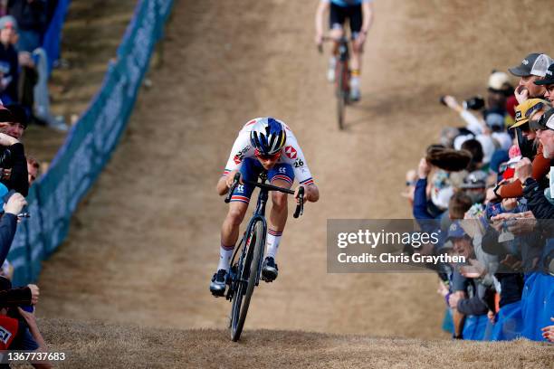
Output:
<svg viewBox="0 0 554 369">
<path fill-rule="evenodd" d="M 239 185 L 240 178 L 241 175 L 239 173 L 234 175 L 234 182 L 229 189 L 229 194 L 225 197 L 225 203 L 231 201 L 231 196 L 236 186 Z M 229 329 L 231 331 L 231 339 L 234 342 L 238 341 L 243 332 L 244 321 L 246 320 L 246 313 L 248 312 L 253 289 L 260 282 L 265 235 L 267 232 L 265 204 L 268 200 L 268 193 L 270 191 L 279 191 L 284 194 L 294 194 L 294 191 L 291 189 L 266 184 L 267 172 L 265 171 L 259 175 L 259 178 L 262 182 L 244 180 L 245 184 L 259 187 L 260 194 L 258 195 L 258 203 L 253 216 L 248 222 L 242 240 L 239 242 L 239 247 L 235 248 L 227 279 L 229 289 L 225 298 L 233 303 L 229 319 Z M 296 206 L 293 214 L 294 218 L 298 218 L 303 213 L 303 187 L 300 188 L 299 195 L 300 203 Z"/>
</svg>

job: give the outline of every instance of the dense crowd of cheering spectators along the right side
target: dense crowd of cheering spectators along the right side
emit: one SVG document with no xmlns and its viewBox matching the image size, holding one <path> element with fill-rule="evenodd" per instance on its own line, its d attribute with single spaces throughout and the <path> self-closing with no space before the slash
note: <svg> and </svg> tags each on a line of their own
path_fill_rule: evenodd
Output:
<svg viewBox="0 0 554 369">
<path fill-rule="evenodd" d="M 492 71 L 487 96 L 441 102 L 460 118 L 406 174 L 422 229 L 440 230 L 438 292 L 454 338 L 554 341 L 554 61 Z"/>
</svg>

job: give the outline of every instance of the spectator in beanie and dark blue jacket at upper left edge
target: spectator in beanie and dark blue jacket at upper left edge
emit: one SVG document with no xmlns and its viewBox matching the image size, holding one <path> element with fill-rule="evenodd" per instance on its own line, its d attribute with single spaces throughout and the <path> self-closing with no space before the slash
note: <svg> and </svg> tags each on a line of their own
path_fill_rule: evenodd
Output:
<svg viewBox="0 0 554 369">
<path fill-rule="evenodd" d="M 0 99 L 4 103 L 17 101 L 19 57 L 12 44 L 16 32 L 17 23 L 13 16 L 0 18 Z"/>
</svg>

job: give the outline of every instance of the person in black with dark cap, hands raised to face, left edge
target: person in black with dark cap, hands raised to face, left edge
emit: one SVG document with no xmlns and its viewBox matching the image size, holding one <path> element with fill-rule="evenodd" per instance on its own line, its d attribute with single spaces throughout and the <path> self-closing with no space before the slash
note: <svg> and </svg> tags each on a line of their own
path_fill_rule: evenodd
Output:
<svg viewBox="0 0 554 369">
<path fill-rule="evenodd" d="M 29 193 L 27 160 L 24 146 L 19 142 L 25 120 L 20 109 L 11 108 L 0 107 L 0 168 L 3 169 L 0 183 L 26 196 Z"/>
</svg>

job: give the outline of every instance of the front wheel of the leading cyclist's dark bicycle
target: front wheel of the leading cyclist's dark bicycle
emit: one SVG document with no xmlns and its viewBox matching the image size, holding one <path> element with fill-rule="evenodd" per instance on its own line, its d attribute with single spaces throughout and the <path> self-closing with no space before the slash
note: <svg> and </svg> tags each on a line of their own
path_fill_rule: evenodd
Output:
<svg viewBox="0 0 554 369">
<path fill-rule="evenodd" d="M 247 256 L 239 275 L 238 288 L 234 291 L 233 308 L 231 310 L 231 339 L 236 342 L 243 332 L 244 321 L 252 298 L 253 289 L 258 278 L 260 259 L 262 258 L 263 222 L 256 222 L 250 236 Z"/>
</svg>

